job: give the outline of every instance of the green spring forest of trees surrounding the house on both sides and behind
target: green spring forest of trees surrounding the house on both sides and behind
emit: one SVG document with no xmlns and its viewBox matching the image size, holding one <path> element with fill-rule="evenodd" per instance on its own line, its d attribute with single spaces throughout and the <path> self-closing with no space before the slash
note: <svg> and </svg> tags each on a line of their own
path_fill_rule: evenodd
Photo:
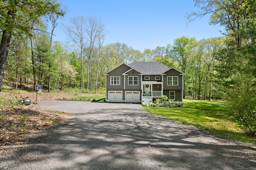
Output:
<svg viewBox="0 0 256 170">
<path fill-rule="evenodd" d="M 245 130 L 256 131 L 255 0 L 194 0 L 200 10 L 188 13 L 188 22 L 211 14 L 210 24 L 225 28 L 222 36 L 182 36 L 144 51 L 120 42 L 103 45 L 108 31 L 95 17 L 74 16 L 64 26 L 69 43 L 52 41 L 65 9 L 47 2 L 0 2 L 0 91 L 6 79 L 16 82 L 16 89 L 40 84 L 49 92 L 72 88 L 98 93 L 105 87 L 104 73 L 120 63 L 155 61 L 186 74 L 184 97 L 225 99 Z"/>
</svg>

